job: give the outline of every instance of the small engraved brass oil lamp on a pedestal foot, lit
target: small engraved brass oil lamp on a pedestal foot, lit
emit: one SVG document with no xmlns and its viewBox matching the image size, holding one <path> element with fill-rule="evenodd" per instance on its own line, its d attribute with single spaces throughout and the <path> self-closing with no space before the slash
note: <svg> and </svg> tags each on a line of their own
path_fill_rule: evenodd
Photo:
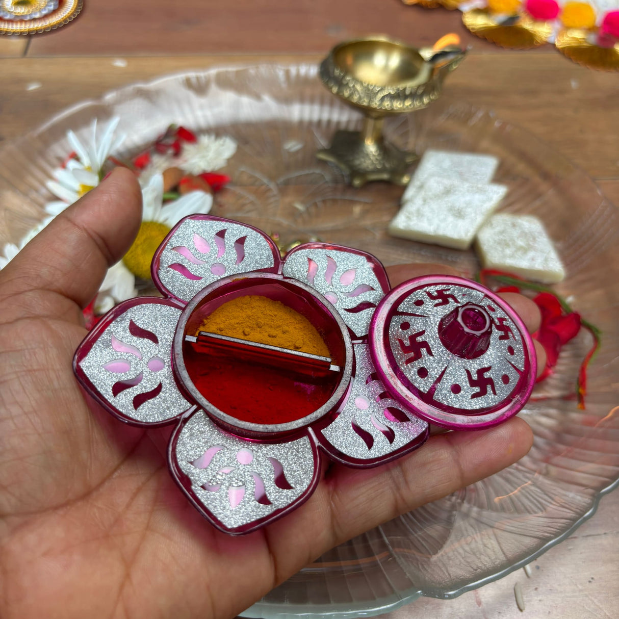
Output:
<svg viewBox="0 0 619 619">
<path fill-rule="evenodd" d="M 365 115 L 361 131 L 337 131 L 331 146 L 317 154 L 337 165 L 353 187 L 369 181 L 409 182 L 407 168 L 417 155 L 384 139 L 384 118 L 421 110 L 439 97 L 443 80 L 461 63 L 466 50 L 459 45 L 437 49 L 437 45 L 416 49 L 375 36 L 339 43 L 322 61 L 323 84 Z"/>
</svg>

